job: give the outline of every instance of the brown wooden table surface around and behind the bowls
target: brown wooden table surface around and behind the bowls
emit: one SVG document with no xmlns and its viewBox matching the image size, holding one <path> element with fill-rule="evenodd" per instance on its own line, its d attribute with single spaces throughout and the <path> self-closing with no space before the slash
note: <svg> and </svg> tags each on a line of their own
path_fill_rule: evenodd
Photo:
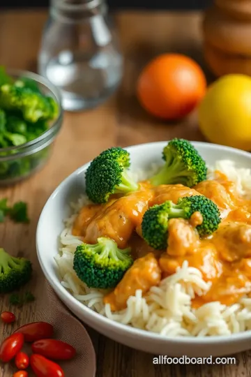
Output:
<svg viewBox="0 0 251 377">
<path fill-rule="evenodd" d="M 0 62 L 10 68 L 36 70 L 36 56 L 47 14 L 43 11 L 3 12 L 0 14 Z M 197 129 L 196 114 L 178 124 L 152 119 L 135 99 L 135 78 L 140 68 L 155 54 L 185 52 L 200 57 L 200 20 L 198 13 L 119 13 L 115 15 L 123 53 L 126 58 L 121 88 L 113 98 L 88 112 L 66 113 L 50 163 L 35 176 L 1 189 L 0 198 L 29 203 L 29 226 L 6 221 L 0 226 L 1 246 L 13 255 L 30 258 L 35 276 L 29 287 L 36 302 L 17 313 L 19 325 L 33 321 L 39 292 L 45 282 L 38 265 L 35 232 L 40 211 L 54 188 L 73 170 L 107 147 L 135 145 L 168 140 L 174 136 L 203 140 Z M 1 297 L 0 312 L 13 309 Z M 0 324 L 0 340 L 10 332 Z M 175 376 L 251 376 L 251 353 L 236 355 L 231 365 L 153 365 L 153 356 L 115 343 L 89 329 L 97 355 L 97 377 L 175 377 Z M 0 376 L 10 377 L 8 366 L 0 366 Z M 78 376 L 84 376 L 79 371 Z"/>
</svg>

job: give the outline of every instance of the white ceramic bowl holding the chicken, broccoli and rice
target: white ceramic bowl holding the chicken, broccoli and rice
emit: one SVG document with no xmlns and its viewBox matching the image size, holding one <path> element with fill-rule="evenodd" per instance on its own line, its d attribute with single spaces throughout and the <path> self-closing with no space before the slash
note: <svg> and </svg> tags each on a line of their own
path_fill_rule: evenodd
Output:
<svg viewBox="0 0 251 377">
<path fill-rule="evenodd" d="M 132 169 L 147 169 L 151 163 L 160 163 L 162 148 L 166 144 L 167 142 L 153 142 L 128 147 Z M 251 154 L 248 152 L 204 142 L 194 142 L 193 144 L 208 164 L 213 164 L 220 159 L 230 159 L 236 161 L 240 167 L 250 168 L 251 166 Z M 61 286 L 54 256 L 58 253 L 58 239 L 61 230 L 63 230 L 63 219 L 68 216 L 70 211 L 69 203 L 85 192 L 84 172 L 88 165 L 86 164 L 73 172 L 52 193 L 40 215 L 36 232 L 36 248 L 43 273 L 66 306 L 80 320 L 105 336 L 126 346 L 155 355 L 175 357 L 182 355 L 189 357 L 222 356 L 251 348 L 251 331 L 228 337 L 168 339 L 160 334 L 121 325 L 87 308 Z"/>
</svg>

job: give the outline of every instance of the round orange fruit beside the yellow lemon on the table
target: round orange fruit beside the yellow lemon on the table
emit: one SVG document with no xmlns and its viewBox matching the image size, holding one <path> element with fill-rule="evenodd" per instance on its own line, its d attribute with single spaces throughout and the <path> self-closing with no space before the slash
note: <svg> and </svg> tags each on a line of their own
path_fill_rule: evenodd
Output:
<svg viewBox="0 0 251 377">
<path fill-rule="evenodd" d="M 200 66 L 182 54 L 162 54 L 146 65 L 137 80 L 137 98 L 155 117 L 180 119 L 195 109 L 206 92 Z"/>
</svg>

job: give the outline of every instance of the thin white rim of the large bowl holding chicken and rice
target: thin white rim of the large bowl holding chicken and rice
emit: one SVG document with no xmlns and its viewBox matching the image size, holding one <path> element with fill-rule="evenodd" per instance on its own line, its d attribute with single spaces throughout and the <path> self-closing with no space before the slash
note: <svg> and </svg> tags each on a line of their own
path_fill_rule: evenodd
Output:
<svg viewBox="0 0 251 377">
<path fill-rule="evenodd" d="M 170 140 L 164 140 L 164 141 L 157 141 L 157 142 L 142 143 L 142 144 L 138 144 L 138 145 L 130 145 L 128 147 L 123 147 L 123 149 L 127 149 L 128 151 L 131 151 L 132 149 L 137 149 L 138 147 L 142 147 L 142 146 L 153 147 L 155 145 L 156 147 L 158 147 L 158 146 L 162 147 L 163 145 L 166 145 L 167 142 L 169 142 L 169 141 Z M 213 143 L 209 143 L 209 142 L 197 142 L 197 141 L 192 141 L 192 140 L 190 140 L 190 142 L 195 147 L 203 147 L 204 145 L 206 145 L 206 147 L 208 147 L 209 149 L 212 149 L 212 151 L 214 149 L 222 149 L 222 151 L 229 151 L 231 153 L 241 155 L 241 156 L 251 160 L 251 154 L 248 151 L 242 151 L 241 149 L 236 149 L 236 148 L 233 148 L 233 147 L 227 147 L 227 146 L 224 146 L 224 145 L 217 145 L 217 144 L 213 144 Z M 111 319 L 105 317 L 105 316 L 102 316 L 102 314 L 97 313 L 96 311 L 93 311 L 93 309 L 89 308 L 88 306 L 85 306 L 84 304 L 82 304 L 82 302 L 79 302 L 73 295 L 71 295 L 70 292 L 68 292 L 68 290 L 66 290 L 66 288 L 64 288 L 61 285 L 61 281 L 57 276 L 54 278 L 53 276 L 51 276 L 46 271 L 45 266 L 43 265 L 43 257 L 42 257 L 43 253 L 40 252 L 40 246 L 38 244 L 38 237 L 39 237 L 40 232 L 42 230 L 42 226 L 41 226 L 42 218 L 45 215 L 47 208 L 50 207 L 50 201 L 53 200 L 56 195 L 59 195 L 61 188 L 63 188 L 63 186 L 66 184 L 66 182 L 70 182 L 75 176 L 79 175 L 80 173 L 84 173 L 84 171 L 86 170 L 86 168 L 88 168 L 90 163 L 91 163 L 91 161 L 80 166 L 74 172 L 72 172 L 70 175 L 68 175 L 68 177 L 63 179 L 63 181 L 55 188 L 55 190 L 52 192 L 50 197 L 45 202 L 45 205 L 42 209 L 42 212 L 40 213 L 40 218 L 38 219 L 38 225 L 37 225 L 37 228 L 36 228 L 36 252 L 37 252 L 37 256 L 38 256 L 38 261 L 40 263 L 41 269 L 43 270 L 43 274 L 45 275 L 45 278 L 47 279 L 47 281 L 49 281 L 49 283 L 51 284 L 51 286 L 54 289 L 54 291 L 56 292 L 56 294 L 59 295 L 59 297 L 60 296 L 65 297 L 66 302 L 70 302 L 70 306 L 77 308 L 78 311 L 82 311 L 86 317 L 89 317 L 89 318 L 92 317 L 93 321 L 96 320 L 96 322 L 100 321 L 100 323 L 102 323 L 102 325 L 104 325 L 107 328 L 107 330 L 114 330 L 114 331 L 117 331 L 117 332 L 122 333 L 122 334 L 127 333 L 127 334 L 130 334 L 132 337 L 137 336 L 137 337 L 140 337 L 140 339 L 142 341 L 144 341 L 144 339 L 148 339 L 148 340 L 151 339 L 152 341 L 153 340 L 154 341 L 160 341 L 162 343 L 169 342 L 169 343 L 176 343 L 176 344 L 177 343 L 183 343 L 184 345 L 185 344 L 187 344 L 187 345 L 190 345 L 190 344 L 212 345 L 213 343 L 218 343 L 218 344 L 219 343 L 226 343 L 226 342 L 229 343 L 229 342 L 232 342 L 232 341 L 243 341 L 245 339 L 250 339 L 251 338 L 251 330 L 246 330 L 245 332 L 238 332 L 236 334 L 229 334 L 229 335 L 218 335 L 218 336 L 214 335 L 214 336 L 211 336 L 211 337 L 192 337 L 192 336 L 182 337 L 182 336 L 178 336 L 178 337 L 175 337 L 175 338 L 171 338 L 171 337 L 165 337 L 164 335 L 161 335 L 161 334 L 158 334 L 158 333 L 155 333 L 155 332 L 150 332 L 150 331 L 147 331 L 147 330 L 139 329 L 137 327 L 132 327 L 130 325 L 124 325 L 123 323 L 118 323 L 114 320 L 111 320 Z M 59 235 L 56 235 L 56 236 L 58 237 Z M 70 309 L 68 308 L 68 310 L 70 310 Z"/>
</svg>

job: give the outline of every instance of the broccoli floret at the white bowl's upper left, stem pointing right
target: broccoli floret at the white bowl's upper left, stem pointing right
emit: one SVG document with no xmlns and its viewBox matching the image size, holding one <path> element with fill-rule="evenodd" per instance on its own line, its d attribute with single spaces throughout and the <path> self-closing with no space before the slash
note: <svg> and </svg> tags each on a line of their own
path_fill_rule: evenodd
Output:
<svg viewBox="0 0 251 377">
<path fill-rule="evenodd" d="M 113 147 L 102 151 L 86 170 L 86 194 L 95 203 L 105 203 L 114 193 L 130 193 L 138 188 L 128 168 L 130 154 Z"/>
</svg>

